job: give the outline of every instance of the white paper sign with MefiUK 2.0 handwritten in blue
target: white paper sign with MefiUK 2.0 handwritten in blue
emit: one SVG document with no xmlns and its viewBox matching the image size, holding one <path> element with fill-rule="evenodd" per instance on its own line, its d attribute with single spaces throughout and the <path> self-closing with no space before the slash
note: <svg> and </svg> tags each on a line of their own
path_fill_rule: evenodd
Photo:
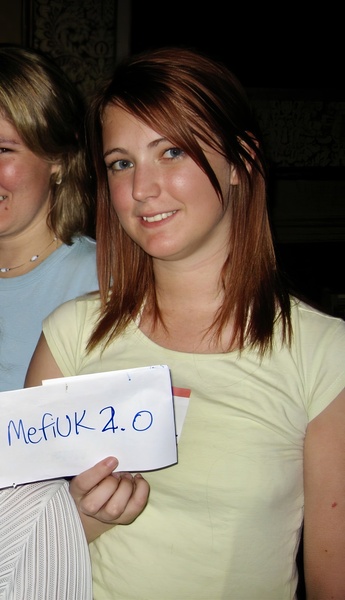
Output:
<svg viewBox="0 0 345 600">
<path fill-rule="evenodd" d="M 0 487 L 68 477 L 106 456 L 119 471 L 177 462 L 166 365 L 63 377 L 0 393 Z"/>
</svg>

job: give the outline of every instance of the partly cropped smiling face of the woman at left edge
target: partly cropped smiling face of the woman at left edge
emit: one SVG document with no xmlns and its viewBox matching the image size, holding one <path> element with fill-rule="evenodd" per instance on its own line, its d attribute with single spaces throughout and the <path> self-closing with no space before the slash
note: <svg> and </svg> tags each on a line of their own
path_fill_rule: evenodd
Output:
<svg viewBox="0 0 345 600">
<path fill-rule="evenodd" d="M 0 116 L 0 237 L 15 236 L 46 220 L 50 176 L 57 170 L 33 154 Z"/>
</svg>

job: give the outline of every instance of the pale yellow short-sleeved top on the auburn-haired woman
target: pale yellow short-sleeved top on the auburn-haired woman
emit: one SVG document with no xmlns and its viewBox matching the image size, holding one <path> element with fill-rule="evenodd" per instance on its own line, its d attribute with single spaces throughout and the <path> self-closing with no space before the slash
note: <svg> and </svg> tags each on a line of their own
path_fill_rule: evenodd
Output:
<svg viewBox="0 0 345 600">
<path fill-rule="evenodd" d="M 191 389 L 178 464 L 147 473 L 134 523 L 91 544 L 95 600 L 291 600 L 303 518 L 307 423 L 345 385 L 345 322 L 293 307 L 291 351 L 197 355 L 165 350 L 133 323 L 85 355 L 97 300 L 45 321 L 64 375 L 167 364 Z"/>
</svg>

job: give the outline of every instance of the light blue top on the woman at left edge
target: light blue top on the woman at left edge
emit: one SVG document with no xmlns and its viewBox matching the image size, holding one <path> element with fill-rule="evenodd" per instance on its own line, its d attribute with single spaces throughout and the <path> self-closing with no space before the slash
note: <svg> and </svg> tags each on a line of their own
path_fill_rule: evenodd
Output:
<svg viewBox="0 0 345 600">
<path fill-rule="evenodd" d="M 23 387 L 43 319 L 96 289 L 96 242 L 89 237 L 63 244 L 25 275 L 0 278 L 0 391 Z"/>
</svg>

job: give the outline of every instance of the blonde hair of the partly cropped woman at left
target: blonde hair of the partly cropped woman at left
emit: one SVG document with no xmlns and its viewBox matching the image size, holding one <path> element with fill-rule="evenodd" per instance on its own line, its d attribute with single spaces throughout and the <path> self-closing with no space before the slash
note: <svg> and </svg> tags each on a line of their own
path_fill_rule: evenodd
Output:
<svg viewBox="0 0 345 600">
<path fill-rule="evenodd" d="M 31 49 L 0 46 L 0 73 L 0 114 L 34 154 L 60 165 L 51 176 L 48 226 L 71 244 L 92 231 L 94 219 L 83 99 L 53 61 Z"/>
</svg>

